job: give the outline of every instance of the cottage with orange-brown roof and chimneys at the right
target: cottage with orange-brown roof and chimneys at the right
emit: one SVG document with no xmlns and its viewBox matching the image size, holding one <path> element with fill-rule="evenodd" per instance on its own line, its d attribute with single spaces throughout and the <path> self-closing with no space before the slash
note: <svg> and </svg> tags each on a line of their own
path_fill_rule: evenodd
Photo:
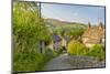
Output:
<svg viewBox="0 0 110 74">
<path fill-rule="evenodd" d="M 88 23 L 88 29 L 84 32 L 81 36 L 82 43 L 91 47 L 92 45 L 97 43 L 103 43 L 105 44 L 105 27 L 100 22 L 99 25 L 90 25 L 90 22 Z"/>
</svg>

